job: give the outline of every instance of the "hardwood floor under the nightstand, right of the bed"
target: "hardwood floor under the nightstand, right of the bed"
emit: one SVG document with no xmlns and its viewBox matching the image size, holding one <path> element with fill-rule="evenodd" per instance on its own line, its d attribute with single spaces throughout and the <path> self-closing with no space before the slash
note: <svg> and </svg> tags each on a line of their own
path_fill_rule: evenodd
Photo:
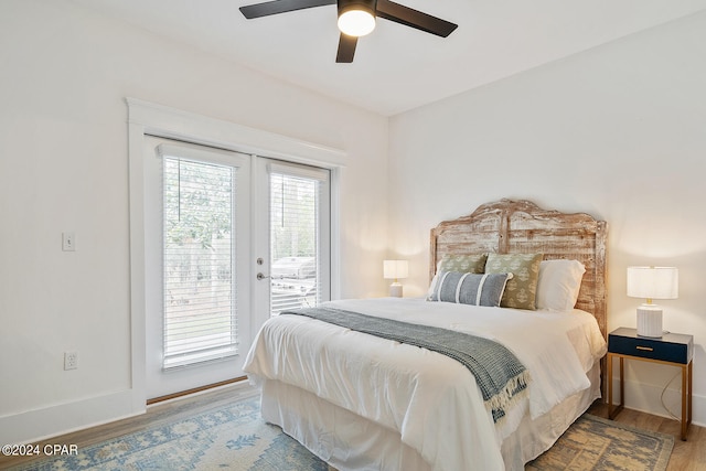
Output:
<svg viewBox="0 0 706 471">
<path fill-rule="evenodd" d="M 608 417 L 608 406 L 595 403 L 588 411 L 599 417 Z M 699 471 L 706 470 L 706 428 L 692 424 L 687 441 L 680 438 L 681 425 L 676 420 L 651 414 L 623 409 L 617 417 L 617 422 L 627 424 L 643 430 L 659 431 L 674 436 L 674 449 L 667 465 L 667 471 Z"/>
</svg>

